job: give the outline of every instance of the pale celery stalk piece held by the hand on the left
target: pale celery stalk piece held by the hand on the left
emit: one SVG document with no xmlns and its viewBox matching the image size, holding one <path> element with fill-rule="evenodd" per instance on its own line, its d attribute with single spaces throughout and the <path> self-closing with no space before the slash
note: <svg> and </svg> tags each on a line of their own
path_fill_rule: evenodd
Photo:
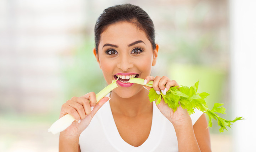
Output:
<svg viewBox="0 0 256 152">
<path fill-rule="evenodd" d="M 102 89 L 99 93 L 96 94 L 96 101 L 100 101 L 103 97 L 105 97 L 108 93 L 110 93 L 114 88 L 118 87 L 116 84 L 117 80 L 113 80 L 111 84 L 109 84 L 106 88 Z M 57 134 L 66 128 L 68 128 L 72 122 L 75 121 L 75 118 L 69 114 L 61 117 L 57 121 L 55 121 L 52 126 L 48 129 L 48 132 L 52 132 L 53 134 Z"/>
</svg>

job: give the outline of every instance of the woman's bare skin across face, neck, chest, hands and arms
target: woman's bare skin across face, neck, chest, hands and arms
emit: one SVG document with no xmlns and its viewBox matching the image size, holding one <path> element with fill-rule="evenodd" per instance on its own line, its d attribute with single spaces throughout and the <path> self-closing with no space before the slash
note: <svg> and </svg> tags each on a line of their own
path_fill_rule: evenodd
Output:
<svg viewBox="0 0 256 152">
<path fill-rule="evenodd" d="M 138 40 L 143 42 L 129 46 Z M 106 46 L 106 44 L 112 46 Z M 143 51 L 136 48 L 142 48 Z M 158 48 L 159 46 L 156 45 L 153 50 L 145 32 L 137 29 L 135 25 L 118 22 L 109 25 L 103 31 L 98 53 L 95 48 L 93 51 L 108 84 L 119 72 L 135 72 L 147 82 L 154 81 L 153 88 L 156 91 L 164 92 L 165 89 L 169 90 L 172 86 L 178 86 L 178 83 L 166 76 L 150 76 L 151 66 L 156 64 Z M 136 52 L 140 53 L 136 54 Z M 111 53 L 113 55 L 109 55 Z M 145 89 L 139 84 L 130 87 L 119 86 L 112 90 L 110 96 L 109 102 L 118 132 L 124 141 L 134 147 L 145 142 L 151 129 L 153 103 L 149 102 L 148 89 L 150 87 Z M 73 97 L 63 104 L 60 117 L 69 113 L 76 121 L 60 133 L 60 151 L 80 151 L 78 141 L 81 132 L 90 124 L 92 117 L 107 100 L 108 98 L 104 97 L 96 104 L 95 93 L 91 92 L 82 97 Z M 91 111 L 92 106 L 94 109 Z M 174 113 L 163 100 L 156 106 L 174 125 L 179 152 L 211 151 L 209 129 L 207 129 L 208 124 L 204 114 L 192 125 L 187 110 L 180 107 Z M 81 122 L 78 123 L 80 119 Z"/>
</svg>

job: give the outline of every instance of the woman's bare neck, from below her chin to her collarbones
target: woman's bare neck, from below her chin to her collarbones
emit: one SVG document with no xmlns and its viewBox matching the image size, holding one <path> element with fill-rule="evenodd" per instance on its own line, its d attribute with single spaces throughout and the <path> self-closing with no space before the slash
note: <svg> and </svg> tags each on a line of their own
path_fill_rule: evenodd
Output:
<svg viewBox="0 0 256 152">
<path fill-rule="evenodd" d="M 122 98 L 112 91 L 110 98 L 112 113 L 135 117 L 142 113 L 152 112 L 153 103 L 149 102 L 148 90 L 144 88 L 130 98 Z"/>
</svg>

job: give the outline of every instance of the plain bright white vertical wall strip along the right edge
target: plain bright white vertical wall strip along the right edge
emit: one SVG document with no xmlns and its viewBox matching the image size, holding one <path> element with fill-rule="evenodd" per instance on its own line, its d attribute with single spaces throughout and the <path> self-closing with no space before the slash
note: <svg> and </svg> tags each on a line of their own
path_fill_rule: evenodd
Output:
<svg viewBox="0 0 256 152">
<path fill-rule="evenodd" d="M 255 151 L 256 1 L 230 0 L 230 48 L 234 152 Z"/>
</svg>

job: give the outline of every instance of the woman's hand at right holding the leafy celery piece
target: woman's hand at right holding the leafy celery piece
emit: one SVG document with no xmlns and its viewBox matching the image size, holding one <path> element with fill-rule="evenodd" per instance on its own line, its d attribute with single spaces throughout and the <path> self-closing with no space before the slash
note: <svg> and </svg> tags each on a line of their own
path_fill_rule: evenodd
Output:
<svg viewBox="0 0 256 152">
<path fill-rule="evenodd" d="M 170 80 L 168 77 L 163 76 L 147 76 L 145 77 L 146 83 L 149 81 L 153 82 L 153 88 L 156 91 L 157 94 L 166 94 L 167 90 L 170 89 L 170 87 L 179 86 L 178 83 L 175 80 Z M 151 87 L 145 86 L 148 90 Z M 161 111 L 161 113 L 174 125 L 182 125 L 186 124 L 188 122 L 191 122 L 191 118 L 188 115 L 188 112 L 186 109 L 182 109 L 181 106 L 178 107 L 178 109 L 174 112 L 164 101 L 164 99 L 161 100 L 160 104 L 156 105 L 158 109 Z"/>
</svg>

